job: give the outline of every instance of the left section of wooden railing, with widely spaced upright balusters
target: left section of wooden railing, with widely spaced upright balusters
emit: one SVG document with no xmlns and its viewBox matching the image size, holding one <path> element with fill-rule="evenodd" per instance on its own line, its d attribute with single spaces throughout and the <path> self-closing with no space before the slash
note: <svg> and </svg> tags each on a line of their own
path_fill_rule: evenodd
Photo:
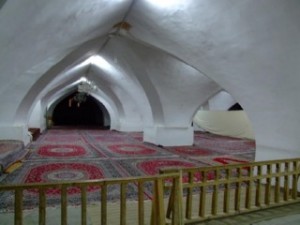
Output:
<svg viewBox="0 0 300 225">
<path fill-rule="evenodd" d="M 59 189 L 61 193 L 60 197 L 60 208 L 61 208 L 61 224 L 68 224 L 68 189 L 69 188 L 79 188 L 80 189 L 80 206 L 81 206 L 81 224 L 87 224 L 87 196 L 88 196 L 88 187 L 98 187 L 100 192 L 100 221 L 99 224 L 106 225 L 108 222 L 108 194 L 110 186 L 119 186 L 120 198 L 119 198 L 119 215 L 112 215 L 113 217 L 119 216 L 118 224 L 125 225 L 127 223 L 127 194 L 128 185 L 134 185 L 137 187 L 137 193 L 130 193 L 136 195 L 134 200 L 137 204 L 137 219 L 135 224 L 152 224 L 152 225 L 164 225 L 166 224 L 165 217 L 165 207 L 164 207 L 164 183 L 173 181 L 172 185 L 174 190 L 177 193 L 180 193 L 180 175 L 177 174 L 167 174 L 167 175 L 158 175 L 152 177 L 138 177 L 138 178 L 125 178 L 125 179 L 105 179 L 105 180 L 90 180 L 90 181 L 78 181 L 78 182 L 60 182 L 60 183 L 35 183 L 35 184 L 22 184 L 22 185 L 0 185 L 0 193 L 5 191 L 14 192 L 14 224 L 22 225 L 23 224 L 23 195 L 24 191 L 36 189 L 38 190 L 38 205 L 31 207 L 38 208 L 39 214 L 39 224 L 46 224 L 46 213 L 47 213 L 47 190 Z M 145 186 L 152 187 L 153 196 L 151 197 L 152 201 L 152 216 L 148 218 L 145 217 Z M 178 205 L 179 199 L 176 199 L 174 202 L 173 210 L 174 216 L 171 218 L 172 224 L 182 224 L 180 222 L 180 212 L 181 206 Z M 150 202 L 151 203 L 151 202 Z M 148 221 L 147 221 L 148 220 Z M 12 222 L 13 223 L 13 222 Z M 114 223 L 116 224 L 116 223 Z M 130 221 L 127 224 L 134 224 Z"/>
</svg>

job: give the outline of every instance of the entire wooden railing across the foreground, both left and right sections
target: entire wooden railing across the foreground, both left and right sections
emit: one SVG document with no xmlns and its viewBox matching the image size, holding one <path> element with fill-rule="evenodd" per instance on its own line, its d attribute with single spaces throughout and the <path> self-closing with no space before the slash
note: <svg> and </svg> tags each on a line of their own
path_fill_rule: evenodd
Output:
<svg viewBox="0 0 300 225">
<path fill-rule="evenodd" d="M 23 224 L 24 195 L 32 189 L 38 193 L 38 204 L 31 207 L 38 208 L 40 225 L 46 224 L 47 192 L 52 189 L 60 192 L 61 224 L 68 224 L 68 190 L 71 188 L 80 190 L 81 224 L 87 224 L 88 190 L 91 186 L 97 187 L 99 192 L 97 215 L 100 218 L 97 224 L 182 225 L 300 202 L 299 176 L 300 158 L 297 158 L 213 167 L 169 168 L 151 177 L 0 185 L 0 193 L 8 191 L 14 194 L 15 225 Z M 136 187 L 135 193 L 128 190 L 130 185 Z M 111 186 L 118 186 L 120 193 L 119 213 L 112 215 L 118 218 L 113 223 L 108 220 L 112 214 L 109 212 Z M 147 192 L 150 198 L 145 195 Z M 134 220 L 130 220 L 132 205 L 128 206 L 128 195 L 136 204 L 137 217 Z M 146 203 L 151 207 L 145 207 Z"/>
</svg>

